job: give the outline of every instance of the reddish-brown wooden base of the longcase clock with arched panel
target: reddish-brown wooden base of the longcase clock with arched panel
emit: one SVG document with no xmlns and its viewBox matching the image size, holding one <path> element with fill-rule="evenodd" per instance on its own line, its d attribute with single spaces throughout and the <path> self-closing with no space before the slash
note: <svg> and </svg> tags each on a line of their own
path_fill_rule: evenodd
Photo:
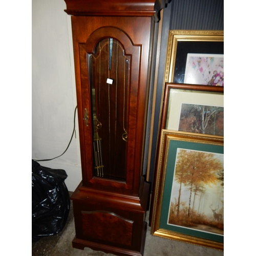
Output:
<svg viewBox="0 0 256 256">
<path fill-rule="evenodd" d="M 138 196 L 80 186 L 73 193 L 74 248 L 89 247 L 116 255 L 143 255 L 150 184 L 141 178 Z"/>
</svg>

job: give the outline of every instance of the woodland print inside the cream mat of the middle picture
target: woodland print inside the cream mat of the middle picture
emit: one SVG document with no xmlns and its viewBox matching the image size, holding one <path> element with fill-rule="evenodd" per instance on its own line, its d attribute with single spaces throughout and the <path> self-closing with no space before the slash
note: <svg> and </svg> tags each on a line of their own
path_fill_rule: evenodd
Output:
<svg viewBox="0 0 256 256">
<path fill-rule="evenodd" d="M 178 131 L 224 136 L 224 108 L 182 103 Z"/>
</svg>

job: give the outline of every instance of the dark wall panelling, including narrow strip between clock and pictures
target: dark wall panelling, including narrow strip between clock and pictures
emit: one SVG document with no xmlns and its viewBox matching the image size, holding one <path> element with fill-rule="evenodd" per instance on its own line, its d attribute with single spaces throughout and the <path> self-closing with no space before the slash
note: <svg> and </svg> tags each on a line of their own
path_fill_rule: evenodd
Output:
<svg viewBox="0 0 256 256">
<path fill-rule="evenodd" d="M 163 10 L 153 137 L 148 181 L 153 182 L 169 30 L 224 30 L 223 0 L 172 0 Z"/>
</svg>

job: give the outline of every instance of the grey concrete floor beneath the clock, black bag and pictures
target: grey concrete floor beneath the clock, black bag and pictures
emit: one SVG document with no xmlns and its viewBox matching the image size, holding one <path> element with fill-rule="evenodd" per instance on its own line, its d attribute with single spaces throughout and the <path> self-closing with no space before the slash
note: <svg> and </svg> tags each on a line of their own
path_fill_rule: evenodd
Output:
<svg viewBox="0 0 256 256">
<path fill-rule="evenodd" d="M 147 212 L 147 218 L 149 213 Z M 55 236 L 41 238 L 32 243 L 32 256 L 112 256 L 102 251 L 94 251 L 90 248 L 84 250 L 72 247 L 75 236 L 75 225 L 73 217 L 73 206 L 65 227 Z M 224 252 L 202 247 L 198 245 L 183 243 L 152 236 L 150 227 L 147 227 L 144 256 L 223 256 Z M 114 256 L 114 255 L 113 255 Z"/>
</svg>

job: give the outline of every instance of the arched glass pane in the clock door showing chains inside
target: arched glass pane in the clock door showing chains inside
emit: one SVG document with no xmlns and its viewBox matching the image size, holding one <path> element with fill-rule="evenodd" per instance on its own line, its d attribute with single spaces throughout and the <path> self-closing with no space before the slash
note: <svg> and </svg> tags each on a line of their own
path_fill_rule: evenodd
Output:
<svg viewBox="0 0 256 256">
<path fill-rule="evenodd" d="M 125 181 L 130 56 L 119 41 L 101 40 L 90 54 L 94 176 Z"/>
</svg>

